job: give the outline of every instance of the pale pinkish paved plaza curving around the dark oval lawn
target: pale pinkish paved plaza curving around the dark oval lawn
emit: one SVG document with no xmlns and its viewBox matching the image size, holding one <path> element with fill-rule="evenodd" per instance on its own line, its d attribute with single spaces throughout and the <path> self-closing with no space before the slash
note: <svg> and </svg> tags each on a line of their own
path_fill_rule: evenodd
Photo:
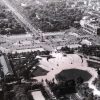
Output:
<svg viewBox="0 0 100 100">
<path fill-rule="evenodd" d="M 88 79 L 86 79 L 85 82 L 87 82 L 89 84 L 89 87 L 93 89 L 93 93 L 95 95 L 100 95 L 100 92 L 92 84 L 92 82 L 97 77 L 97 71 L 94 68 L 88 67 L 88 64 L 85 58 L 80 57 L 78 54 L 64 55 L 62 52 L 52 52 L 51 55 L 52 55 L 52 58 L 49 60 L 47 60 L 46 57 L 40 57 L 41 60 L 40 60 L 39 66 L 45 69 L 46 71 L 48 71 L 48 73 L 44 76 L 35 77 L 35 79 L 37 79 L 39 82 L 41 82 L 41 80 L 47 79 L 50 81 L 54 79 L 55 82 L 57 82 L 56 75 L 58 75 L 64 70 L 67 71 L 70 69 L 76 69 L 79 71 L 86 72 L 87 75 L 85 77 L 89 75 Z M 82 72 L 83 75 L 84 75 L 84 72 Z"/>
</svg>

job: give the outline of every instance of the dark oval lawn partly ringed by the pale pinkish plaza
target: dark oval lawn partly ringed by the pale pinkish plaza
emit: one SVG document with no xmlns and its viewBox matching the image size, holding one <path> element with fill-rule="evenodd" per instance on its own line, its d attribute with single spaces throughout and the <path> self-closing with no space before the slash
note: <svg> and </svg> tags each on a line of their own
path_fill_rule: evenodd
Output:
<svg viewBox="0 0 100 100">
<path fill-rule="evenodd" d="M 88 81 L 92 77 L 92 75 L 87 71 L 79 69 L 63 70 L 56 75 L 56 78 L 61 81 L 67 81 L 72 79 L 76 80 L 78 77 L 82 77 L 84 81 Z"/>
</svg>

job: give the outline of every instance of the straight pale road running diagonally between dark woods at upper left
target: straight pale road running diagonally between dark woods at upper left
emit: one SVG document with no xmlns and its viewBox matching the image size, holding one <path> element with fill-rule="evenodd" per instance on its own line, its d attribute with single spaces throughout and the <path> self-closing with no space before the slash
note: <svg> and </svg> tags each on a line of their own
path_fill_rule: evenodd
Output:
<svg viewBox="0 0 100 100">
<path fill-rule="evenodd" d="M 30 29 L 30 31 L 32 31 L 32 34 L 34 36 L 38 36 L 40 32 L 38 32 L 28 21 L 26 18 L 24 18 L 19 12 L 18 10 L 13 7 L 10 2 L 8 0 L 2 0 L 4 2 L 4 4 L 18 17 L 18 19 L 26 25 L 26 27 L 28 27 Z"/>
</svg>

